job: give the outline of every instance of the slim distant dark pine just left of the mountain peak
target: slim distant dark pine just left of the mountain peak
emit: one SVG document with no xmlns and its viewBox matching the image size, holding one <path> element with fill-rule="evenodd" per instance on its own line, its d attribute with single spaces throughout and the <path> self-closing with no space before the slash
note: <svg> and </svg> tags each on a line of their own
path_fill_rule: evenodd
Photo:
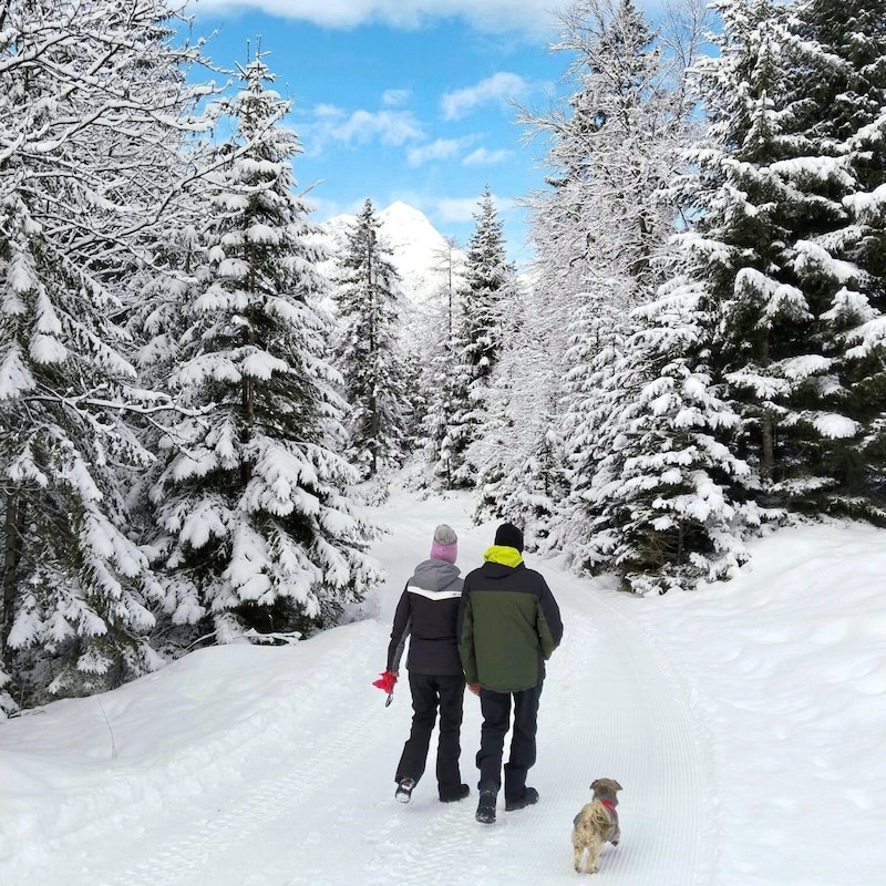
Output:
<svg viewBox="0 0 886 886">
<path fill-rule="evenodd" d="M 367 199 L 337 257 L 338 367 L 350 406 L 348 457 L 363 478 L 409 454 L 410 403 L 398 339 L 400 276 Z"/>
</svg>

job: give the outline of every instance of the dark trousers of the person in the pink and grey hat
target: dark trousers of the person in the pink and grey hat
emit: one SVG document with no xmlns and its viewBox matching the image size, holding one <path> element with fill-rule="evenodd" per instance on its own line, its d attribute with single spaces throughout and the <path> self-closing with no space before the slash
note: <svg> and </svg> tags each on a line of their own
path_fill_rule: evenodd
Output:
<svg viewBox="0 0 886 886">
<path fill-rule="evenodd" d="M 445 674 L 432 677 L 425 673 L 409 673 L 412 691 L 412 731 L 396 766 L 396 781 L 412 779 L 415 782 L 424 774 L 431 732 L 440 709 L 440 741 L 436 749 L 436 783 L 441 796 L 455 796 L 462 784 L 459 756 L 462 753 L 462 708 L 464 705 L 464 677 Z"/>
</svg>

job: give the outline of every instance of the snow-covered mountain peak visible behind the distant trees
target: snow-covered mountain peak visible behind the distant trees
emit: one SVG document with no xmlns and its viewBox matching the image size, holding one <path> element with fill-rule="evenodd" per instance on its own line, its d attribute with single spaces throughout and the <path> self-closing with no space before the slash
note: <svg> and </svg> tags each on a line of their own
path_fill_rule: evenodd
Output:
<svg viewBox="0 0 886 886">
<path fill-rule="evenodd" d="M 396 200 L 385 209 L 377 212 L 380 233 L 391 248 L 391 261 L 403 282 L 403 295 L 413 303 L 435 299 L 447 284 L 446 238 L 427 220 L 427 216 L 414 206 Z M 348 231 L 353 227 L 357 216 L 337 215 L 319 227 L 330 255 L 337 255 L 346 243 Z M 455 266 L 461 267 L 464 253 L 455 250 Z M 328 262 L 327 274 L 334 269 L 334 261 Z M 457 278 L 453 285 L 457 287 Z"/>
</svg>

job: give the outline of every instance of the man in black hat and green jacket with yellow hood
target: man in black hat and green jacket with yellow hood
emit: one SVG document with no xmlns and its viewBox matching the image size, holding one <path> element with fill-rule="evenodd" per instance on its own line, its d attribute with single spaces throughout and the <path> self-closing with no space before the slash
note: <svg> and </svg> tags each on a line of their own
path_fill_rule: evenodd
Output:
<svg viewBox="0 0 886 886">
<path fill-rule="evenodd" d="M 523 563 L 523 533 L 503 523 L 484 564 L 464 580 L 459 607 L 459 655 L 467 688 L 480 696 L 483 727 L 477 751 L 476 818 L 495 821 L 511 707 L 514 731 L 504 766 L 505 810 L 538 802 L 526 775 L 535 764 L 538 700 L 545 661 L 563 638 L 563 621 L 545 579 Z"/>
</svg>

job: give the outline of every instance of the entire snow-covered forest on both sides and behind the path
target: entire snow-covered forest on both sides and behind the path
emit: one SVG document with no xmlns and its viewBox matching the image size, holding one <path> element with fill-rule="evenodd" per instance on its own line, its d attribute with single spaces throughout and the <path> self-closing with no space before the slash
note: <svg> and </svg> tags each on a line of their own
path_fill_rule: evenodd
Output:
<svg viewBox="0 0 886 886">
<path fill-rule="evenodd" d="M 334 625 L 410 459 L 639 593 L 883 521 L 882 3 L 714 6 L 559 13 L 529 278 L 487 188 L 405 329 L 370 202 L 323 272 L 260 53 L 216 92 L 161 0 L 0 4 L 0 709 Z"/>
</svg>

